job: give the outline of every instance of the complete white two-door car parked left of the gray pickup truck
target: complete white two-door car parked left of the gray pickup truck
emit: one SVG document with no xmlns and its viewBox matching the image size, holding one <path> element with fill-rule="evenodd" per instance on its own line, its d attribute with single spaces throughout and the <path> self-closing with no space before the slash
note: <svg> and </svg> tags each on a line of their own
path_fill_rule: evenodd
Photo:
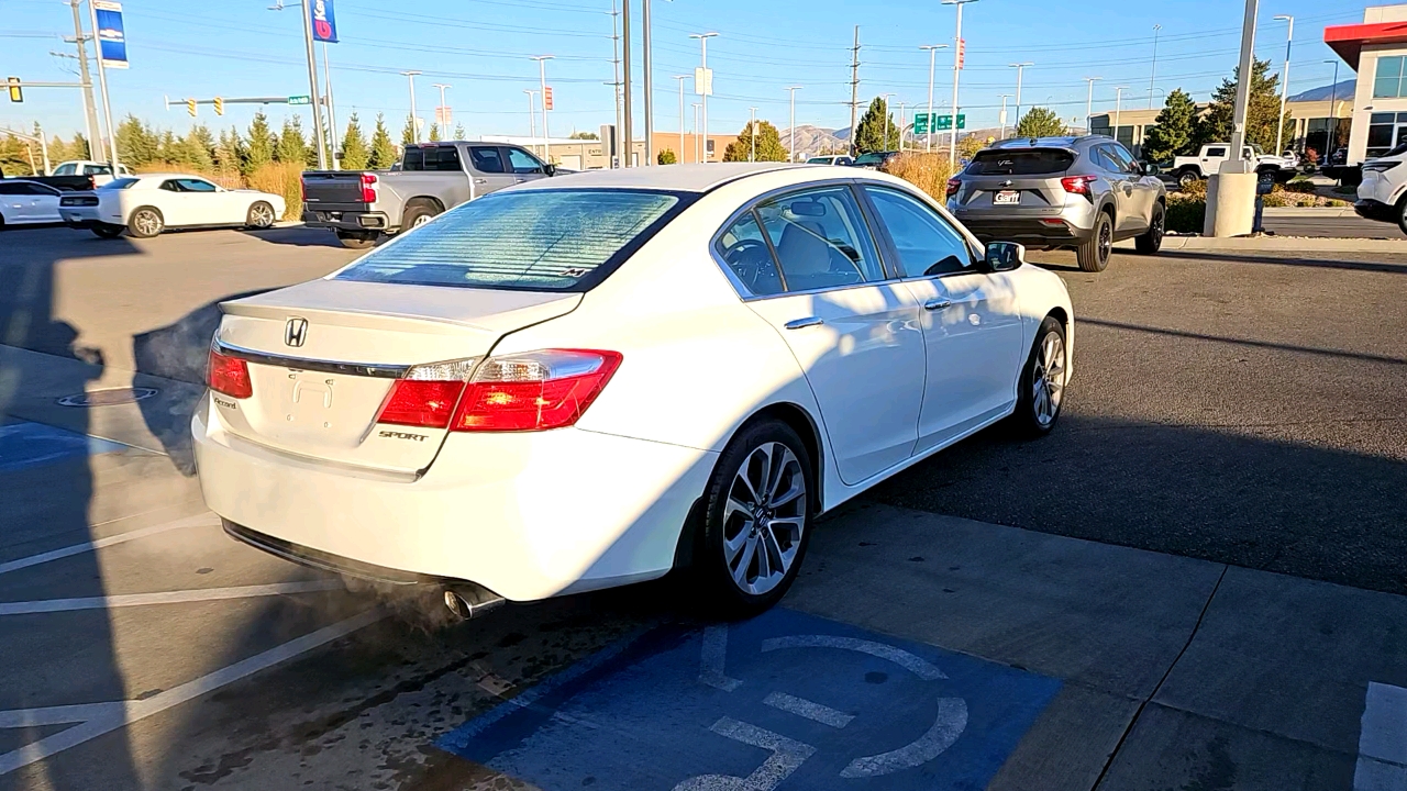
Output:
<svg viewBox="0 0 1407 791">
<path fill-rule="evenodd" d="M 142 173 L 59 198 L 63 222 L 107 239 L 122 231 L 145 239 L 166 228 L 269 228 L 284 207 L 283 196 L 227 190 L 189 173 Z"/>
</svg>

